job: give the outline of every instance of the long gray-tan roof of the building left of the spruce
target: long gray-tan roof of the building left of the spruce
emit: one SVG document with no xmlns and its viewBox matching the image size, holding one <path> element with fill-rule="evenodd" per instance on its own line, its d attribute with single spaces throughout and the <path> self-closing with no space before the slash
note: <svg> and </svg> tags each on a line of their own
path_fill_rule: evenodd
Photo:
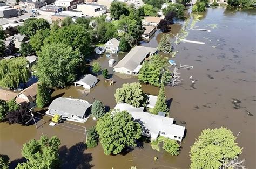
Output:
<svg viewBox="0 0 256 169">
<path fill-rule="evenodd" d="M 157 49 L 152 47 L 135 46 L 114 68 L 124 67 L 130 71 L 134 71 L 149 53 L 156 53 L 156 51 Z"/>
</svg>

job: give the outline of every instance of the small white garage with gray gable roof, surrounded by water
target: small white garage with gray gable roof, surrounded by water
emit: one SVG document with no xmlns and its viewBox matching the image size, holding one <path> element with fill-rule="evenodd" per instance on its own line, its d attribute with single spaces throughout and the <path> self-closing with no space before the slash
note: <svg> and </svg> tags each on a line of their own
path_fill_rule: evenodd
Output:
<svg viewBox="0 0 256 169">
<path fill-rule="evenodd" d="M 75 86 L 83 86 L 83 88 L 90 90 L 92 87 L 96 85 L 97 82 L 98 82 L 98 78 L 96 78 L 91 74 L 87 74 L 82 79 L 74 83 L 75 83 Z"/>
</svg>

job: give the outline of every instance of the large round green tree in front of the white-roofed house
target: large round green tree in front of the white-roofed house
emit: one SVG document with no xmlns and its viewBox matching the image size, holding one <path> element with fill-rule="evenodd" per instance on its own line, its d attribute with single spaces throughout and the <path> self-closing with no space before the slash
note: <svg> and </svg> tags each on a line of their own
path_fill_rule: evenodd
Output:
<svg viewBox="0 0 256 169">
<path fill-rule="evenodd" d="M 96 124 L 100 143 L 104 154 L 118 154 L 126 146 L 136 146 L 135 140 L 140 138 L 142 128 L 132 120 L 127 111 L 106 113 Z"/>
</svg>

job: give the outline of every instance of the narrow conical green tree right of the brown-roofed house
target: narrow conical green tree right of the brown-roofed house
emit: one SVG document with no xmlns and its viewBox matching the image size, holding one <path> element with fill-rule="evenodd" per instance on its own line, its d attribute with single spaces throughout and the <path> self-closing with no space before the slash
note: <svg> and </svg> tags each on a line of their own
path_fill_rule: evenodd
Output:
<svg viewBox="0 0 256 169">
<path fill-rule="evenodd" d="M 51 100 L 49 89 L 44 85 L 37 85 L 36 104 L 38 108 L 43 108 Z"/>
</svg>

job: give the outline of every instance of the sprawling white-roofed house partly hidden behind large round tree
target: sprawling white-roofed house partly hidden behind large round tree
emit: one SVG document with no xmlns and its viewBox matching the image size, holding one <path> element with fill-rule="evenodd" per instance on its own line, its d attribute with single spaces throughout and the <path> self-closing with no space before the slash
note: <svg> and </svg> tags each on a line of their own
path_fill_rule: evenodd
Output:
<svg viewBox="0 0 256 169">
<path fill-rule="evenodd" d="M 173 124 L 173 118 L 143 112 L 140 111 L 142 108 L 134 108 L 124 103 L 118 103 L 114 109 L 128 111 L 133 120 L 142 126 L 142 135 L 150 137 L 152 140 L 157 139 L 158 136 L 164 136 L 181 142 L 184 138 L 185 127 Z"/>
</svg>

